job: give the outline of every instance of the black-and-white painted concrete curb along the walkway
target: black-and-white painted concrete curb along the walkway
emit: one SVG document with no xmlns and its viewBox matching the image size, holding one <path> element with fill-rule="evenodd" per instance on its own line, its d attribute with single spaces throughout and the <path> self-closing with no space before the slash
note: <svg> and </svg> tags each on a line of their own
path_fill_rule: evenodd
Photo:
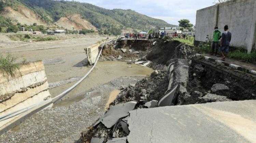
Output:
<svg viewBox="0 0 256 143">
<path fill-rule="evenodd" d="M 230 67 L 232 69 L 235 69 L 235 70 L 240 70 L 242 72 L 246 72 L 246 73 L 249 73 L 249 74 L 252 74 L 252 75 L 256 75 L 255 70 L 251 70 L 251 69 L 248 69 L 248 68 L 243 67 L 243 66 L 235 65 L 235 64 L 232 64 L 232 63 L 229 63 L 229 62 L 226 62 L 226 61 L 220 61 L 220 60 L 217 60 L 217 59 L 214 59 L 214 58 L 211 58 L 211 57 L 203 56 L 202 54 L 198 54 L 198 53 L 196 54 L 196 57 L 201 57 L 201 58 L 204 58 L 205 60 L 215 62 L 217 64 L 221 64 L 221 65 L 224 65 L 224 66 L 228 66 L 228 67 Z"/>
</svg>

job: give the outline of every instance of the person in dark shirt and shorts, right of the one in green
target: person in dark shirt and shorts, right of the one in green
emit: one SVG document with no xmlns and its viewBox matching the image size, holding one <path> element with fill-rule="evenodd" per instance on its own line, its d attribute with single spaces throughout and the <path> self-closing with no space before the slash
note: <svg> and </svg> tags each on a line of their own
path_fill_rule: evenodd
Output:
<svg viewBox="0 0 256 143">
<path fill-rule="evenodd" d="M 222 33 L 222 39 L 221 39 L 221 54 L 222 54 L 222 59 L 225 61 L 226 55 L 229 52 L 229 45 L 231 41 L 231 32 L 228 31 L 228 26 L 225 25 L 224 27 L 224 32 Z"/>
</svg>

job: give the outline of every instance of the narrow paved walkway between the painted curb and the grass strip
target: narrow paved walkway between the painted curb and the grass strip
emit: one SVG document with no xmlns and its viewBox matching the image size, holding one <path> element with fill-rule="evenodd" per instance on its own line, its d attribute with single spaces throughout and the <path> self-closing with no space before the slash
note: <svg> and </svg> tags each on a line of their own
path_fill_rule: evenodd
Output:
<svg viewBox="0 0 256 143">
<path fill-rule="evenodd" d="M 211 57 L 213 59 L 217 59 L 217 60 L 220 60 L 220 61 L 222 59 L 222 57 L 216 57 L 214 55 L 209 55 L 209 54 L 205 54 L 205 56 Z M 229 62 L 229 63 L 235 64 L 235 65 L 243 66 L 243 67 L 246 67 L 247 69 L 251 69 L 251 70 L 256 71 L 256 65 L 255 64 L 244 63 L 244 62 L 240 62 L 238 60 L 234 60 L 234 59 L 230 59 L 230 58 L 226 58 L 225 62 Z"/>
</svg>

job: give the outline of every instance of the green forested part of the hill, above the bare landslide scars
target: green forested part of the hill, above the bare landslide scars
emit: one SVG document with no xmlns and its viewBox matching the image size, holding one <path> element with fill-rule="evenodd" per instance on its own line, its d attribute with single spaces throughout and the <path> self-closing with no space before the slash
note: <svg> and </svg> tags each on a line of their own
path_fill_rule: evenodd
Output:
<svg viewBox="0 0 256 143">
<path fill-rule="evenodd" d="M 121 29 L 132 28 L 138 30 L 149 30 L 154 27 L 173 27 L 169 23 L 139 14 L 132 10 L 114 9 L 108 10 L 89 3 L 64 0 L 0 0 L 4 6 L 13 9 L 19 4 L 32 10 L 35 14 L 52 24 L 63 21 L 63 17 L 69 18 L 72 15 L 79 15 L 82 19 L 89 21 L 98 30 L 108 29 L 111 33 Z M 1 8 L 0 8 L 1 9 Z M 73 21 L 76 22 L 76 21 Z M 176 27 L 176 26 L 175 26 Z"/>
</svg>

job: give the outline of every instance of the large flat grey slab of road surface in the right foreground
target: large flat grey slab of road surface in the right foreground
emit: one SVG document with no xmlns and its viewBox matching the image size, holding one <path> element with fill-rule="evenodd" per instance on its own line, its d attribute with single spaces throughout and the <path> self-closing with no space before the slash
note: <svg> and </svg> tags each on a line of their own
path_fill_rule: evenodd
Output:
<svg viewBox="0 0 256 143">
<path fill-rule="evenodd" d="M 256 100 L 133 110 L 129 112 L 127 141 L 254 142 L 255 111 Z"/>
</svg>

